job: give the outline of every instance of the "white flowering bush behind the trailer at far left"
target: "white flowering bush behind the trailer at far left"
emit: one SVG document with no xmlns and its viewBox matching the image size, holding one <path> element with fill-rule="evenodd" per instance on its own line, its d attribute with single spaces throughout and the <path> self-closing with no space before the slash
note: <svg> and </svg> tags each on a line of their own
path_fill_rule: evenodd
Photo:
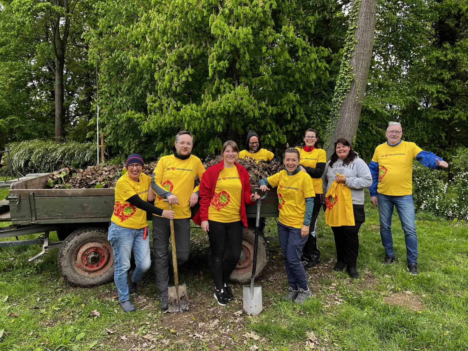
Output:
<svg viewBox="0 0 468 351">
<path fill-rule="evenodd" d="M 11 157 L 22 174 L 49 172 L 50 161 L 57 170 L 62 167 L 62 161 L 73 168 L 85 168 L 96 162 L 96 146 L 91 143 L 69 141 L 56 144 L 47 140 L 28 140 L 9 145 L 12 148 Z M 6 155 L 2 158 L 6 164 Z"/>
</svg>

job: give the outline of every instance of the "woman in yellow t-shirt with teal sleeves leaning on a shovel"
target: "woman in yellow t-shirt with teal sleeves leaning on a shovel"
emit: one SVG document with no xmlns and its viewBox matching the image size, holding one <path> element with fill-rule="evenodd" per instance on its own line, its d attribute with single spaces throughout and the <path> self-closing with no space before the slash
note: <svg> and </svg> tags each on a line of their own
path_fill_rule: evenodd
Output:
<svg viewBox="0 0 468 351">
<path fill-rule="evenodd" d="M 315 193 L 312 178 L 301 171 L 299 162 L 299 150 L 286 149 L 285 169 L 261 179 L 258 184 L 262 191 L 278 187 L 278 237 L 289 282 L 289 291 L 283 300 L 303 303 L 311 292 L 300 255 L 309 235 Z"/>
</svg>

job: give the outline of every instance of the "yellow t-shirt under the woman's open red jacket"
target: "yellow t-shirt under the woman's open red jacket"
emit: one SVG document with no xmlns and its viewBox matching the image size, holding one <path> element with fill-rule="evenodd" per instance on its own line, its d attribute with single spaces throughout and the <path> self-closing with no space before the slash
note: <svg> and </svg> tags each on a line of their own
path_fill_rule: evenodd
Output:
<svg viewBox="0 0 468 351">
<path fill-rule="evenodd" d="M 208 219 L 222 223 L 241 220 L 241 200 L 242 183 L 237 167 L 221 169 L 208 207 Z"/>
</svg>

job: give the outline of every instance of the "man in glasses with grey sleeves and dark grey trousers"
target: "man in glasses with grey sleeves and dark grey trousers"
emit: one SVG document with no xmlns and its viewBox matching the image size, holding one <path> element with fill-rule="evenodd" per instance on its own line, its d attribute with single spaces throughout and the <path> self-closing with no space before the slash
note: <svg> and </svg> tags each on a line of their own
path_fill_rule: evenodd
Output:
<svg viewBox="0 0 468 351">
<path fill-rule="evenodd" d="M 190 207 L 198 202 L 198 187 L 194 188 L 195 177 L 201 179 L 205 167 L 197 156 L 191 154 L 193 137 L 190 132 L 178 132 L 174 145 L 176 152 L 158 161 L 151 178 L 151 187 L 156 193 L 155 206 L 168 209 L 168 203 L 164 202 L 166 198 L 173 205 L 177 264 L 180 265 L 189 259 Z M 153 215 L 154 271 L 156 285 L 161 292 L 161 310 L 168 309 L 169 238 L 169 220 Z"/>
</svg>

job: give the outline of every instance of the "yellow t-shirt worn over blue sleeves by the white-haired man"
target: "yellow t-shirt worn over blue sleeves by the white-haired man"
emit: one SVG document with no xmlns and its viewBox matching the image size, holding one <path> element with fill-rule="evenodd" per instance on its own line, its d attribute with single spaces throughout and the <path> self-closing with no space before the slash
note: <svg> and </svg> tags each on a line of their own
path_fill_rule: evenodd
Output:
<svg viewBox="0 0 468 351">
<path fill-rule="evenodd" d="M 402 141 L 397 146 L 380 144 L 375 148 L 372 161 L 379 164 L 377 192 L 402 196 L 413 193 L 413 160 L 423 149 L 415 143 Z"/>
</svg>

